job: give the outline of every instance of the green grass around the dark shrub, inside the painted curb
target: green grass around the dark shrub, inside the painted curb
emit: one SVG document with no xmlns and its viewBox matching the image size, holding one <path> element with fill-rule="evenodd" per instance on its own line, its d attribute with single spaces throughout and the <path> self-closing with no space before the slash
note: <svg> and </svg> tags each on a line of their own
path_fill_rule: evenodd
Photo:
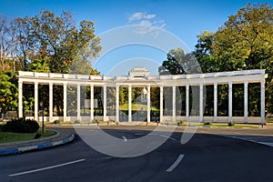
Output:
<svg viewBox="0 0 273 182">
<path fill-rule="evenodd" d="M 37 133 L 41 133 L 40 130 L 38 130 L 35 133 L 28 133 L 28 134 L 23 134 L 23 133 L 12 133 L 12 132 L 3 132 L 0 131 L 0 144 L 3 143 L 8 143 L 8 142 L 19 142 L 19 141 L 25 141 L 25 140 L 30 140 L 34 139 L 35 135 Z M 56 133 L 53 131 L 45 131 L 45 134 L 42 137 L 47 137 L 47 136 L 53 136 Z"/>
</svg>

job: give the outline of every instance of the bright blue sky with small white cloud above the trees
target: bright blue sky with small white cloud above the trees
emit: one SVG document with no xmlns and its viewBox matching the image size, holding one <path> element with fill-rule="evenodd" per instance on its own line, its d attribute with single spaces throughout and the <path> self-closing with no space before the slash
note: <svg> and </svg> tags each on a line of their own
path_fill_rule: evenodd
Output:
<svg viewBox="0 0 273 182">
<path fill-rule="evenodd" d="M 93 21 L 96 35 L 123 25 L 153 25 L 176 35 L 190 50 L 194 50 L 201 31 L 217 31 L 229 15 L 235 15 L 248 2 L 272 5 L 272 1 L 264 0 L 0 0 L 0 13 L 16 17 L 37 15 L 42 9 L 56 15 L 64 10 L 70 11 L 76 22 L 83 19 Z M 147 59 L 155 62 L 155 69 L 151 71 L 156 74 L 156 65 L 165 60 L 166 52 L 142 45 L 119 47 L 104 56 L 96 68 L 103 75 L 112 75 L 113 66 L 126 60 L 135 63 L 137 57 L 144 57 L 145 60 L 140 61 L 139 66 L 146 66 Z M 115 74 L 125 75 L 130 68 L 118 69 Z"/>
</svg>

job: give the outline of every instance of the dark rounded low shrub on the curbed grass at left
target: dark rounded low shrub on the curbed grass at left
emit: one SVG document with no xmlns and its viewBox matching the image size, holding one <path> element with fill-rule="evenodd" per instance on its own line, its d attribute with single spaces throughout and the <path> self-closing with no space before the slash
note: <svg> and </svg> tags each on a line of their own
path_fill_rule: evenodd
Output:
<svg viewBox="0 0 273 182">
<path fill-rule="evenodd" d="M 2 130 L 15 133 L 34 133 L 39 129 L 39 124 L 33 119 L 16 118 L 6 122 Z"/>
</svg>

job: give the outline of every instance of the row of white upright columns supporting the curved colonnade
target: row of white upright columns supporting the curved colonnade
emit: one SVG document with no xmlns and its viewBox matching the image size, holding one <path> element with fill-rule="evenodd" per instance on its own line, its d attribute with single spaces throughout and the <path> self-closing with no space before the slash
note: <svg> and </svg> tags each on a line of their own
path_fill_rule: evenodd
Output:
<svg viewBox="0 0 273 182">
<path fill-rule="evenodd" d="M 23 116 L 23 82 L 18 82 L 18 104 L 19 104 L 19 117 Z M 64 83 L 64 120 L 67 116 L 67 85 Z M 77 84 L 77 119 L 80 119 L 80 84 Z M 90 105 L 91 112 L 90 117 L 91 121 L 94 120 L 94 85 L 90 85 Z M 203 99 L 203 87 L 202 83 L 199 84 L 199 121 L 203 121 L 203 111 L 204 111 L 204 99 Z M 176 121 L 176 89 L 177 86 L 172 86 L 172 120 Z M 265 122 L 265 82 L 261 81 L 261 103 L 260 103 L 260 113 L 261 113 L 261 123 Z M 164 86 L 160 86 L 160 121 L 163 121 L 163 90 Z M 147 122 L 150 122 L 150 110 L 151 110 L 151 101 L 150 101 L 150 91 L 151 86 L 147 86 Z M 104 120 L 106 120 L 106 85 L 104 86 Z M 245 122 L 248 122 L 248 81 L 244 82 L 244 119 Z M 52 120 L 53 117 L 53 83 L 49 83 L 49 120 Z M 189 121 L 189 84 L 186 85 L 186 119 Z M 38 120 L 38 82 L 35 82 L 35 120 Z M 116 121 L 119 121 L 119 86 L 116 85 Z M 132 121 L 132 86 L 128 86 L 128 122 Z M 217 83 L 214 84 L 214 122 L 217 121 Z M 228 83 L 228 122 L 232 121 L 232 82 Z"/>
</svg>

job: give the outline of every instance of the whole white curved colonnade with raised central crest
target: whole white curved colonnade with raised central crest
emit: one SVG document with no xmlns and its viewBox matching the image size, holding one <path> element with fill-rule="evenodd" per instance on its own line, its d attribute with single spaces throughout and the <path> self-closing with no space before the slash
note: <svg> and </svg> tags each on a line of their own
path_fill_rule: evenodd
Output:
<svg viewBox="0 0 273 182">
<path fill-rule="evenodd" d="M 145 67 L 136 67 L 129 72 L 128 76 L 89 76 L 89 75 L 73 75 L 73 74 L 55 74 L 55 73 L 35 73 L 19 71 L 18 84 L 19 84 L 19 117 L 23 116 L 23 84 L 35 85 L 35 112 L 34 117 L 36 120 L 39 118 L 38 114 L 38 86 L 48 85 L 49 87 L 49 114 L 45 116 L 46 121 L 54 121 L 59 119 L 61 121 L 75 121 L 76 119 L 82 121 L 93 121 L 94 119 L 107 121 L 109 119 L 120 121 L 120 109 L 119 109 L 119 89 L 121 87 L 127 87 L 128 90 L 128 114 L 127 121 L 132 121 L 132 87 L 145 88 L 145 98 L 147 100 L 147 122 L 151 121 L 151 87 L 159 87 L 159 118 L 162 121 L 214 121 L 214 122 L 255 122 L 265 123 L 265 78 L 267 78 L 265 70 L 243 70 L 234 72 L 219 72 L 208 74 L 195 74 L 195 75 L 167 75 L 167 76 L 150 76 L 150 73 Z M 260 83 L 260 116 L 248 116 L 248 84 Z M 232 116 L 232 86 L 234 84 L 244 85 L 244 111 L 243 116 Z M 217 86 L 228 85 L 228 114 L 227 116 L 217 116 Z M 64 99 L 63 99 L 63 116 L 53 115 L 53 86 L 64 87 Z M 67 115 L 67 86 L 76 86 L 76 115 Z M 90 86 L 90 112 L 88 116 L 81 116 L 81 102 L 80 102 L 80 90 L 81 86 Z M 103 115 L 94 115 L 94 87 L 101 86 L 103 89 Z M 185 86 L 186 88 L 186 112 L 185 116 L 177 116 L 176 102 L 177 102 L 177 86 Z M 197 105 L 199 108 L 204 108 L 204 86 L 214 86 L 214 99 L 213 102 L 213 116 L 204 116 L 204 110 L 199 109 L 196 116 L 190 115 L 189 100 L 190 86 L 196 86 L 198 88 Z M 116 112 L 115 116 L 107 116 L 107 96 L 106 88 L 113 87 L 116 90 Z M 169 87 L 172 90 L 170 94 L 172 99 L 167 100 L 172 111 L 168 116 L 164 113 L 164 87 Z M 97 118 L 96 118 L 97 117 Z M 100 118 L 99 118 L 100 117 Z M 39 119 L 40 120 L 40 119 Z"/>
</svg>

